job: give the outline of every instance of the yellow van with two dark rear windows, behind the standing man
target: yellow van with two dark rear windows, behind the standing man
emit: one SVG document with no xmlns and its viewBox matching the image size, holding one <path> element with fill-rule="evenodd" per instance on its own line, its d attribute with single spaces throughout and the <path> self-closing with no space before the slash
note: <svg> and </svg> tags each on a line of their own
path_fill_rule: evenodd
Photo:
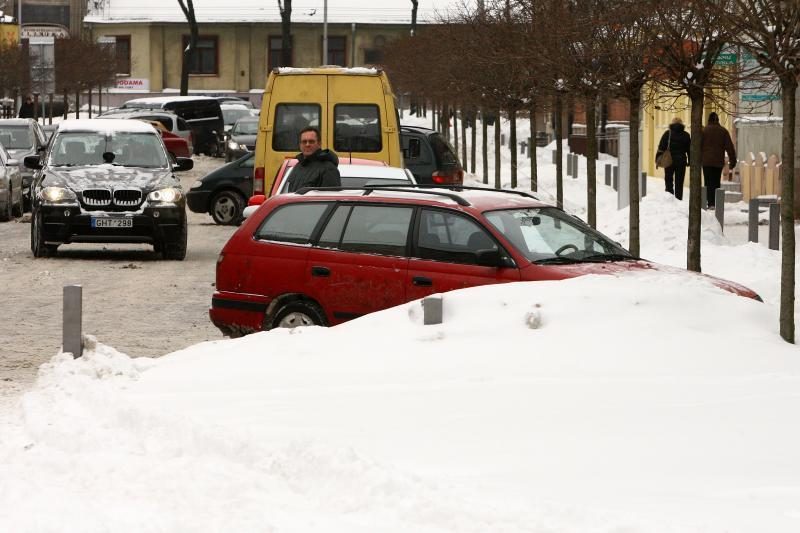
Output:
<svg viewBox="0 0 800 533">
<path fill-rule="evenodd" d="M 386 74 L 372 68 L 276 68 L 261 102 L 253 194 L 269 191 L 281 163 L 300 152 L 300 130 L 319 128 L 322 148 L 403 166 L 400 120 Z"/>
</svg>

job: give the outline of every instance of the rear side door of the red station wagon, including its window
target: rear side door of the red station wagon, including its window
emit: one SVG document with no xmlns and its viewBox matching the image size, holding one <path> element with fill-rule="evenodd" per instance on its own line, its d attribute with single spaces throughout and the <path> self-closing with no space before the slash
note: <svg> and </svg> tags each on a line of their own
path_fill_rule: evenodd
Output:
<svg viewBox="0 0 800 533">
<path fill-rule="evenodd" d="M 331 324 L 406 301 L 414 208 L 339 204 L 308 255 L 308 291 Z"/>
</svg>

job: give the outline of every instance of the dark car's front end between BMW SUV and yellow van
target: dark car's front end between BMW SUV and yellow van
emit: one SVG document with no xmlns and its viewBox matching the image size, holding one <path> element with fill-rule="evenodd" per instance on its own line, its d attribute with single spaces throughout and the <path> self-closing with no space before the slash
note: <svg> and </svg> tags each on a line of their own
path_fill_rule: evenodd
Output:
<svg viewBox="0 0 800 533">
<path fill-rule="evenodd" d="M 253 152 L 195 181 L 186 202 L 195 213 L 208 213 L 217 224 L 238 224 L 247 199 L 253 194 Z"/>
</svg>

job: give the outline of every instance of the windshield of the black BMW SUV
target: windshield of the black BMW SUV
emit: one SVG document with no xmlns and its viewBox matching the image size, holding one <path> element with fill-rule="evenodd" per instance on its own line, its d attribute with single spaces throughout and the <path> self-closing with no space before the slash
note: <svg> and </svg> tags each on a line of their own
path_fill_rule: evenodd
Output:
<svg viewBox="0 0 800 533">
<path fill-rule="evenodd" d="M 165 168 L 167 154 L 161 139 L 145 132 L 67 132 L 58 135 L 50 151 L 52 166 L 102 165 L 104 152 L 112 152 L 115 165 Z"/>
</svg>

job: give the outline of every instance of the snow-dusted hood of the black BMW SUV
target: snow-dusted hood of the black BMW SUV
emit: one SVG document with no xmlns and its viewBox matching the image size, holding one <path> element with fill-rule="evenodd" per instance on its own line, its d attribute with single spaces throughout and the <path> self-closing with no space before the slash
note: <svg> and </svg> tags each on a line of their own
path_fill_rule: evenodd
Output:
<svg viewBox="0 0 800 533">
<path fill-rule="evenodd" d="M 84 189 L 138 188 L 153 191 L 163 187 L 178 187 L 172 170 L 165 168 L 126 168 L 113 165 L 86 167 L 51 167 L 42 182 L 45 187 L 65 187 L 73 191 Z"/>
</svg>

